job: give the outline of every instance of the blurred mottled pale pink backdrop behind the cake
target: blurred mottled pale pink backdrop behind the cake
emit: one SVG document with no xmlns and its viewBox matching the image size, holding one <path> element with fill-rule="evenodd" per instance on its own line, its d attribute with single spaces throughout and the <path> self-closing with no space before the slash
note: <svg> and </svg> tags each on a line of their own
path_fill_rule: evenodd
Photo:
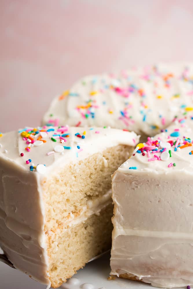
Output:
<svg viewBox="0 0 193 289">
<path fill-rule="evenodd" d="M 1 0 L 0 131 L 40 124 L 79 77 L 191 61 L 190 0 Z"/>
</svg>

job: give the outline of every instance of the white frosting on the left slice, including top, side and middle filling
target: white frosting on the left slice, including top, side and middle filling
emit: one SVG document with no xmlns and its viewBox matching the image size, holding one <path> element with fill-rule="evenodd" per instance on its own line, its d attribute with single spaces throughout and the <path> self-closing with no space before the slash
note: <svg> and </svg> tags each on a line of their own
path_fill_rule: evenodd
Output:
<svg viewBox="0 0 193 289">
<path fill-rule="evenodd" d="M 47 131 L 50 129 L 54 131 Z M 1 137 L 0 245 L 15 268 L 50 286 L 44 232 L 42 178 L 45 174 L 49 177 L 49 174 L 56 173 L 56 170 L 69 162 L 78 162 L 106 148 L 118 144 L 133 146 L 139 137 L 135 133 L 108 128 L 44 127 L 45 131 L 40 130 L 41 128 L 37 130 L 27 128 L 24 132 L 22 130 L 9 132 Z M 34 135 L 36 131 L 39 132 Z M 85 135 L 85 138 L 75 136 L 77 132 L 81 136 Z M 60 136 L 65 133 L 69 137 L 64 136 L 65 140 L 62 139 L 61 143 L 60 136 L 54 135 L 56 141 L 53 141 L 54 133 Z M 26 139 L 23 139 L 23 136 Z M 39 136 L 42 136 L 42 139 L 38 139 Z M 43 142 L 44 140 L 46 142 Z M 37 141 L 41 145 L 34 145 Z M 62 152 L 57 152 L 59 145 L 65 146 Z M 30 151 L 27 151 L 26 147 Z M 7 153 L 4 153 L 5 149 Z M 21 156 L 21 153 L 24 156 Z M 32 171 L 30 166 L 34 167 Z M 111 202 L 110 192 L 104 194 L 99 202 L 89 201 L 88 207 L 83 208 L 80 218 L 75 219 L 71 214 L 72 218 L 67 220 L 69 226 L 84 221 L 91 214 L 98 214 L 109 202 Z"/>
</svg>

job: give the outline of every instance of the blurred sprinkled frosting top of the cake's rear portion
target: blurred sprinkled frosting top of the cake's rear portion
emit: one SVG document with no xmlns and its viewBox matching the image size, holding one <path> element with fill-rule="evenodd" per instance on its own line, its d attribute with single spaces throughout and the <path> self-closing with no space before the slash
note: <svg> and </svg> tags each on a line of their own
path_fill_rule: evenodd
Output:
<svg viewBox="0 0 193 289">
<path fill-rule="evenodd" d="M 56 97 L 44 124 L 111 126 L 155 135 L 193 109 L 193 65 L 87 76 Z"/>
</svg>

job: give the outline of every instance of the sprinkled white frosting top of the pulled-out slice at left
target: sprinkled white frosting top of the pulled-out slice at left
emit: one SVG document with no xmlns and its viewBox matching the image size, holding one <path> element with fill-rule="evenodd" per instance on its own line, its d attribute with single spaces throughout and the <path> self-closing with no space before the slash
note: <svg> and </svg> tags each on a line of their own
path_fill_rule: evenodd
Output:
<svg viewBox="0 0 193 289">
<path fill-rule="evenodd" d="M 0 135 L 0 159 L 28 171 L 46 173 L 118 144 L 135 146 L 134 132 L 94 127 L 26 127 Z"/>
</svg>

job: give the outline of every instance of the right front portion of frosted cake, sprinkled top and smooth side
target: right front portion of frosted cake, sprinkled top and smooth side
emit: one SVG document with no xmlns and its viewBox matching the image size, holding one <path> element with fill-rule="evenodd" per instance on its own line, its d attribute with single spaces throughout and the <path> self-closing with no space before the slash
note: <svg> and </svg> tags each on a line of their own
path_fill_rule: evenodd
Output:
<svg viewBox="0 0 193 289">
<path fill-rule="evenodd" d="M 111 274 L 193 285 L 193 120 L 137 145 L 114 173 Z"/>
</svg>

